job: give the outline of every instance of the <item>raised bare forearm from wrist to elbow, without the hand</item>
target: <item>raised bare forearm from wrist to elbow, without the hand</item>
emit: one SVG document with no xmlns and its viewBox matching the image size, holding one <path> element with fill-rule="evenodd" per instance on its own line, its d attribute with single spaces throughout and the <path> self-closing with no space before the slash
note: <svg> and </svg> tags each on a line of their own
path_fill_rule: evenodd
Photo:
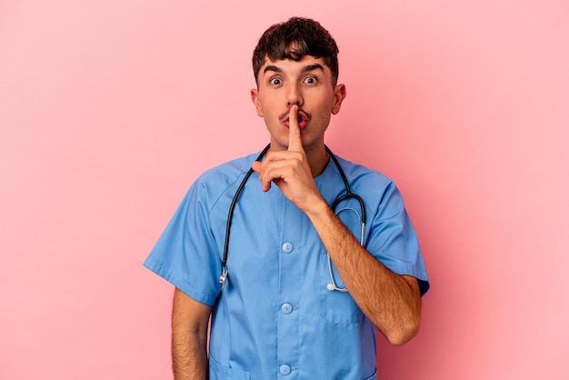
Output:
<svg viewBox="0 0 569 380">
<path fill-rule="evenodd" d="M 367 252 L 325 203 L 307 215 L 364 314 L 392 344 L 403 345 L 410 340 L 421 317 L 416 280 L 394 274 Z"/>
</svg>

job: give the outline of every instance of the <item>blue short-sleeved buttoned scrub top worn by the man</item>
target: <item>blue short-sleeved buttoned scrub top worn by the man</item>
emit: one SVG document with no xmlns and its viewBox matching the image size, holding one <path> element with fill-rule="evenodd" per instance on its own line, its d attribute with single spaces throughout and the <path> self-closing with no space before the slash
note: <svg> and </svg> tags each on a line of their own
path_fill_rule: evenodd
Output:
<svg viewBox="0 0 569 380">
<path fill-rule="evenodd" d="M 326 251 L 314 226 L 276 185 L 263 193 L 255 173 L 235 205 L 221 293 L 227 212 L 255 156 L 201 175 L 145 266 L 196 301 L 215 305 L 211 380 L 376 378 L 374 325 L 349 293 L 327 289 Z M 429 287 L 423 257 L 394 183 L 338 160 L 352 191 L 364 198 L 365 248 L 394 273 L 416 277 L 423 295 Z M 314 181 L 329 205 L 345 194 L 332 160 Z M 359 240 L 359 203 L 347 200 L 339 209 Z M 334 265 L 333 272 L 336 285 L 343 287 Z"/>
</svg>

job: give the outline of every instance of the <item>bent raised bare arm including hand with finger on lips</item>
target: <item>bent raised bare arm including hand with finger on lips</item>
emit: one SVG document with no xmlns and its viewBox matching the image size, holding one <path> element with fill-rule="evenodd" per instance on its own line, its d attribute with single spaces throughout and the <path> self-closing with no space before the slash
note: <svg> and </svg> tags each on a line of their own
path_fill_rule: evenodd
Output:
<svg viewBox="0 0 569 380">
<path fill-rule="evenodd" d="M 288 150 L 269 152 L 263 163 L 253 165 L 263 190 L 274 183 L 308 215 L 355 303 L 392 344 L 403 345 L 416 334 L 421 319 L 417 280 L 391 272 L 334 214 L 314 184 L 295 105 L 289 120 Z"/>
</svg>

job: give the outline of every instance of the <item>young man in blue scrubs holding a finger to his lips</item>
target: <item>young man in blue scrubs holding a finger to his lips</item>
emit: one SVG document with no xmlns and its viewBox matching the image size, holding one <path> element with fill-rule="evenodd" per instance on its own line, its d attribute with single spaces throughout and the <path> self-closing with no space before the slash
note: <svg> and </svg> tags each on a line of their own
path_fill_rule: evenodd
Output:
<svg viewBox="0 0 569 380">
<path fill-rule="evenodd" d="M 268 151 L 200 176 L 145 261 L 175 285 L 175 379 L 375 379 L 375 327 L 394 345 L 417 332 L 429 285 L 402 197 L 324 145 L 337 53 L 313 20 L 265 32 L 251 98 Z"/>
</svg>

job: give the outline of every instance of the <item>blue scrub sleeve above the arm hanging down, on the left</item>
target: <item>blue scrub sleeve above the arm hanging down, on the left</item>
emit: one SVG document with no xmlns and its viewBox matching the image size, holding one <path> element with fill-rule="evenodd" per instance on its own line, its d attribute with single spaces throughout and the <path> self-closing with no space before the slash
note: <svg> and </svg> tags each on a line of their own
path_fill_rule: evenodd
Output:
<svg viewBox="0 0 569 380">
<path fill-rule="evenodd" d="M 201 183 L 192 185 L 144 265 L 196 301 L 214 305 L 221 291 L 221 262 L 205 193 Z"/>
</svg>

